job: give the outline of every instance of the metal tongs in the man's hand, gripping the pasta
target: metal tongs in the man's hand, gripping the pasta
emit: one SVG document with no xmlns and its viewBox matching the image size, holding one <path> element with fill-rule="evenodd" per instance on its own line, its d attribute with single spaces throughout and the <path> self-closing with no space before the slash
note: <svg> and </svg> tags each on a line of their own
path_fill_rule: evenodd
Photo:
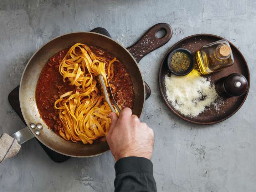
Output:
<svg viewBox="0 0 256 192">
<path fill-rule="evenodd" d="M 107 77 L 107 83 L 108 83 L 108 87 L 109 87 L 109 95 L 110 95 L 110 99 L 112 100 L 114 106 L 116 107 L 118 113 L 120 113 L 120 108 L 118 107 L 115 99 L 114 99 L 114 96 L 113 96 L 113 93 L 111 91 L 111 87 L 109 85 L 109 81 L 108 81 L 108 76 L 106 75 Z M 109 97 L 108 97 L 108 91 L 107 91 L 107 87 L 105 85 L 105 82 L 104 82 L 104 79 L 103 79 L 103 76 L 102 74 L 99 74 L 98 75 L 98 79 L 99 79 L 99 83 L 101 84 L 101 89 L 103 90 L 103 94 L 104 94 L 104 97 L 105 97 L 105 100 L 106 102 L 108 103 L 110 109 L 112 110 L 113 113 L 116 113 L 116 110 L 113 108 L 112 104 L 111 104 L 111 101 L 109 100 Z M 116 113 L 117 114 L 117 113 Z"/>
</svg>

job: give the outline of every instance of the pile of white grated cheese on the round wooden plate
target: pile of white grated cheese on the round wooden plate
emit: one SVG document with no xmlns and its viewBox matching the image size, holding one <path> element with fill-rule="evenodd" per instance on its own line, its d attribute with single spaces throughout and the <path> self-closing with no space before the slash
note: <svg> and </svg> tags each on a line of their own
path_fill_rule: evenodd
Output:
<svg viewBox="0 0 256 192">
<path fill-rule="evenodd" d="M 169 102 L 186 116 L 198 116 L 219 98 L 215 85 L 195 69 L 182 77 L 165 76 L 165 88 Z"/>
</svg>

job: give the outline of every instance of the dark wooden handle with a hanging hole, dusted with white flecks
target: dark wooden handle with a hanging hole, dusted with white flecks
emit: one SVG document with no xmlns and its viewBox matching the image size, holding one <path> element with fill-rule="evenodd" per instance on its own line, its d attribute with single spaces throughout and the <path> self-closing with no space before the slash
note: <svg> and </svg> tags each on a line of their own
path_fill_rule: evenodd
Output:
<svg viewBox="0 0 256 192">
<path fill-rule="evenodd" d="M 165 30 L 166 33 L 162 38 L 158 38 L 157 32 L 162 29 Z M 170 25 L 159 23 L 151 27 L 134 45 L 127 49 L 139 63 L 140 59 L 145 55 L 167 43 L 172 35 L 173 30 Z"/>
</svg>

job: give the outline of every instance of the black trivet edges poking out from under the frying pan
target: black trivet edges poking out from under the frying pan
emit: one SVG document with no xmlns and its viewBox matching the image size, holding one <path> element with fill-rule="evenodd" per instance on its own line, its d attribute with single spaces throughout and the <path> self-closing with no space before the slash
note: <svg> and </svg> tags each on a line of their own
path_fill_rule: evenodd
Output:
<svg viewBox="0 0 256 192">
<path fill-rule="evenodd" d="M 101 33 L 102 35 L 106 35 L 108 37 L 111 37 L 108 33 L 108 31 L 104 28 L 101 27 L 97 27 L 94 28 L 92 30 L 92 32 L 96 32 L 96 33 Z M 15 110 L 15 112 L 19 115 L 19 117 L 21 118 L 21 120 L 26 124 L 22 113 L 21 113 L 21 108 L 20 108 L 20 100 L 19 100 L 19 88 L 20 85 L 18 87 L 16 87 L 14 90 L 11 91 L 11 93 L 8 95 L 8 100 L 9 103 L 11 104 L 11 107 Z M 37 140 L 37 139 L 36 139 Z M 39 140 L 37 140 L 39 142 L 39 144 L 42 146 L 43 150 L 45 150 L 45 152 L 47 153 L 47 155 L 55 162 L 61 163 L 64 161 L 67 161 L 68 159 L 70 159 L 69 156 L 66 155 L 62 155 L 59 154 L 51 149 L 49 149 L 48 147 L 46 147 L 45 145 L 43 145 Z"/>
</svg>

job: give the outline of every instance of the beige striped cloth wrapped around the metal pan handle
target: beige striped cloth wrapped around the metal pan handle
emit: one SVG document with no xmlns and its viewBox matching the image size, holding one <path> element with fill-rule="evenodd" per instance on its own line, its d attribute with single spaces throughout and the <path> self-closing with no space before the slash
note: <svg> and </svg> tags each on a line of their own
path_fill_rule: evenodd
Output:
<svg viewBox="0 0 256 192">
<path fill-rule="evenodd" d="M 16 155 L 20 150 L 17 140 L 6 133 L 0 136 L 0 163 Z"/>
</svg>

